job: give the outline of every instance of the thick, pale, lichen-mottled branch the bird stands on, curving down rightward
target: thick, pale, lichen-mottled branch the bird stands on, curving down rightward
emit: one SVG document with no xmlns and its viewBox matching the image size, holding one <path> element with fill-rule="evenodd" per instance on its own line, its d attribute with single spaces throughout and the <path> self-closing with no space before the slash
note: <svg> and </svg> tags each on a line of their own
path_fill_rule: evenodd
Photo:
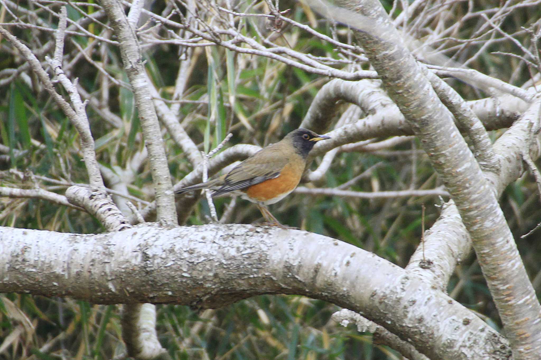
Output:
<svg viewBox="0 0 541 360">
<path fill-rule="evenodd" d="M 439 290 L 370 252 L 305 231 L 238 224 L 137 225 L 100 235 L 0 228 L 0 254 L 1 292 L 196 308 L 301 294 L 385 323 L 430 358 L 509 355 L 501 335 Z"/>
</svg>

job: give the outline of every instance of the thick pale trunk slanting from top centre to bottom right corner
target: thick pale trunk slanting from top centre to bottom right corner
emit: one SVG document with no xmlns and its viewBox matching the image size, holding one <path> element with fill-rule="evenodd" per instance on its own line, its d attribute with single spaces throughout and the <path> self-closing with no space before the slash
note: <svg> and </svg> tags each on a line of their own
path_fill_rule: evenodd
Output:
<svg viewBox="0 0 541 360">
<path fill-rule="evenodd" d="M 446 108 L 433 101 L 433 91 L 426 91 L 431 90 L 430 84 L 405 46 L 397 42 L 400 35 L 391 25 L 381 4 L 370 0 L 362 4 L 349 0 L 339 3 L 364 17 L 370 17 L 370 22 L 378 21 L 379 28 L 383 30 L 378 36 L 359 31 L 355 36 L 361 44 L 366 45 L 367 56 L 382 76 L 389 96 L 412 125 L 457 205 L 509 336 L 513 355 L 520 359 L 539 358 L 541 307 L 502 209 L 454 126 L 451 115 Z M 344 16 L 341 21 L 351 21 L 347 14 L 340 15 Z M 337 19 L 334 11 L 329 16 Z M 470 74 L 472 71 L 457 72 Z M 485 76 L 479 78 L 485 79 Z M 494 83 L 494 79 L 490 78 L 490 82 Z M 510 86 L 505 85 L 500 87 Z M 525 92 L 522 89 L 514 90 L 517 95 Z M 528 95 L 531 99 L 532 95 Z"/>
</svg>

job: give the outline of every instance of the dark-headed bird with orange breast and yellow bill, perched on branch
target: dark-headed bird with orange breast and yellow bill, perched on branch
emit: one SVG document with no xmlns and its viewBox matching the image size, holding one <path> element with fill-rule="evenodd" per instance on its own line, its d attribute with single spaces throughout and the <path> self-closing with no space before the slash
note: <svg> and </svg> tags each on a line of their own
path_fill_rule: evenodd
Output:
<svg viewBox="0 0 541 360">
<path fill-rule="evenodd" d="M 213 190 L 212 197 L 227 193 L 240 195 L 258 206 L 268 224 L 288 228 L 280 224 L 267 205 L 279 202 L 295 190 L 308 164 L 308 154 L 315 143 L 330 138 L 308 129 L 293 130 L 281 141 L 265 146 L 236 165 L 227 174 L 176 190 L 175 194 L 210 189 Z"/>
</svg>

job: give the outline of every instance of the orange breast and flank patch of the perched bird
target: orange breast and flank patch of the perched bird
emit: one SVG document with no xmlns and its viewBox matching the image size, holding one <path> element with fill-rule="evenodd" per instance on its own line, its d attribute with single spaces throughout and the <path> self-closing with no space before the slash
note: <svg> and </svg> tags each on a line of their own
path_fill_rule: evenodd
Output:
<svg viewBox="0 0 541 360">
<path fill-rule="evenodd" d="M 281 199 L 292 192 L 299 185 L 303 171 L 304 166 L 289 163 L 280 171 L 278 177 L 252 185 L 243 191 L 252 200 L 271 203 L 273 199 Z"/>
</svg>

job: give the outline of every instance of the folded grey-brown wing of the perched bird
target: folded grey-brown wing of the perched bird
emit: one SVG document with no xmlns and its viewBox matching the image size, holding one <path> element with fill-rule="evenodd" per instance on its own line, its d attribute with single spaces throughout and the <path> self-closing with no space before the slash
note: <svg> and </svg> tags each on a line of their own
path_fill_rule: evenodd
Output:
<svg viewBox="0 0 541 360">
<path fill-rule="evenodd" d="M 229 171 L 224 178 L 225 184 L 214 191 L 212 196 L 246 189 L 249 186 L 280 176 L 280 171 L 286 166 L 288 159 L 282 151 L 273 145 L 256 152 Z"/>
</svg>

